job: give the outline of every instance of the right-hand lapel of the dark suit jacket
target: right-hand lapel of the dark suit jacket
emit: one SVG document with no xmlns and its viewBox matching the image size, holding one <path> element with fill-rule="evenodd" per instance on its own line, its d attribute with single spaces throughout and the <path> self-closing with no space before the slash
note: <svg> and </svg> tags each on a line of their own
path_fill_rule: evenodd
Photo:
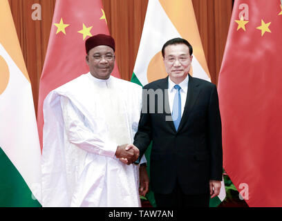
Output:
<svg viewBox="0 0 282 221">
<path fill-rule="evenodd" d="M 198 88 L 198 84 L 194 81 L 193 77 L 189 75 L 189 81 L 188 81 L 188 91 L 187 91 L 187 97 L 185 102 L 185 108 L 183 115 L 181 117 L 180 125 L 178 127 L 178 131 L 181 130 L 181 128 L 185 125 L 187 122 L 187 119 L 192 111 L 192 108 L 198 98 L 198 94 L 200 92 L 200 89 Z M 173 125 L 174 126 L 174 125 Z"/>
</svg>

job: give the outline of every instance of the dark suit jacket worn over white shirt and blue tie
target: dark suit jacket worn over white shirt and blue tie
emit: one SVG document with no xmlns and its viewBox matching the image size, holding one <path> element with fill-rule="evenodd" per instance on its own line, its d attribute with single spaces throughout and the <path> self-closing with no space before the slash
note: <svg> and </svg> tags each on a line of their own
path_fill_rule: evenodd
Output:
<svg viewBox="0 0 282 221">
<path fill-rule="evenodd" d="M 166 116 L 171 117 L 167 88 L 168 77 L 144 86 L 159 94 L 162 91 L 165 96 L 159 95 L 162 102 L 153 101 L 143 90 L 142 113 L 133 144 L 142 156 L 153 141 L 150 180 L 153 192 L 171 193 L 178 178 L 185 194 L 208 193 L 209 180 L 222 180 L 223 171 L 216 86 L 189 75 L 187 101 L 178 131 L 172 121 L 166 120 Z M 158 113 L 158 103 L 168 113 Z"/>
</svg>

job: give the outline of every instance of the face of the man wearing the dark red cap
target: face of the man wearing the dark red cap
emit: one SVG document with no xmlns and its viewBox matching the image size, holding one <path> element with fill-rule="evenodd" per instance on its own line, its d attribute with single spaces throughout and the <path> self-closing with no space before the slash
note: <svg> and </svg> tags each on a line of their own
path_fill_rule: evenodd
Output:
<svg viewBox="0 0 282 221">
<path fill-rule="evenodd" d="M 88 51 L 86 63 L 90 73 L 98 79 L 108 79 L 115 66 L 113 48 L 109 46 L 97 46 Z"/>
</svg>

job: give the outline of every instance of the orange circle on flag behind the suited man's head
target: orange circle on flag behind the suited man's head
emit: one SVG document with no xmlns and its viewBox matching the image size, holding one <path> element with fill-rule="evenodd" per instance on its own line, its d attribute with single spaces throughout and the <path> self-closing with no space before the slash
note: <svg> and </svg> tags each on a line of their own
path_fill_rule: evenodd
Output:
<svg viewBox="0 0 282 221">
<path fill-rule="evenodd" d="M 193 68 L 191 66 L 189 74 L 193 76 Z M 148 83 L 167 77 L 167 71 L 164 68 L 162 52 L 158 52 L 150 61 L 147 69 Z"/>
</svg>

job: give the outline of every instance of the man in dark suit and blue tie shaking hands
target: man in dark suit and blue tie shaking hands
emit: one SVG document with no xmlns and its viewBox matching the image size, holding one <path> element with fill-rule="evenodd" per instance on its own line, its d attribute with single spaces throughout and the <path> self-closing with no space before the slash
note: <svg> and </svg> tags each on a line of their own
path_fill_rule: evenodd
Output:
<svg viewBox="0 0 282 221">
<path fill-rule="evenodd" d="M 162 48 L 168 77 L 144 86 L 133 145 L 144 154 L 152 141 L 151 189 L 157 206 L 209 206 L 223 171 L 216 86 L 191 77 L 193 49 L 185 39 Z"/>
</svg>

